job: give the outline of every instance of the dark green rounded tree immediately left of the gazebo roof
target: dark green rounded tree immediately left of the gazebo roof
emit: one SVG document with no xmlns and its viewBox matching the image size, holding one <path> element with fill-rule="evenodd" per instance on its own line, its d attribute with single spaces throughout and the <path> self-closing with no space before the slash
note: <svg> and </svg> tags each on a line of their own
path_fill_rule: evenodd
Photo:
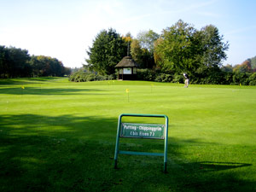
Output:
<svg viewBox="0 0 256 192">
<path fill-rule="evenodd" d="M 101 74 L 115 73 L 115 65 L 126 55 L 125 40 L 112 28 L 97 34 L 92 47 L 89 47 L 86 61 L 92 69 Z"/>
</svg>

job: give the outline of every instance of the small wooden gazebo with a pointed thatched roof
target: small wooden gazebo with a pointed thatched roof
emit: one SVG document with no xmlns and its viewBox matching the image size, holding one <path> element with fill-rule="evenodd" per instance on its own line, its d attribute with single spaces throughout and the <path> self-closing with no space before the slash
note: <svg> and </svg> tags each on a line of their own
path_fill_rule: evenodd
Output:
<svg viewBox="0 0 256 192">
<path fill-rule="evenodd" d="M 120 80 L 137 79 L 137 67 L 139 67 L 139 65 L 131 56 L 125 56 L 115 67 L 119 70 Z"/>
</svg>

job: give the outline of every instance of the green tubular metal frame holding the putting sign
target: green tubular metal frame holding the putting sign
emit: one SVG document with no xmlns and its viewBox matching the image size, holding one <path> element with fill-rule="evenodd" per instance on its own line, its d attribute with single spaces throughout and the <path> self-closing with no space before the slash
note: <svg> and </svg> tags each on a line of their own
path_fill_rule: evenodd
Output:
<svg viewBox="0 0 256 192">
<path fill-rule="evenodd" d="M 165 118 L 166 125 L 165 125 L 165 149 L 164 153 L 148 153 L 148 152 L 137 152 L 137 151 L 121 151 L 119 150 L 119 137 L 121 136 L 122 130 L 122 117 L 131 116 L 131 117 L 154 117 L 154 118 Z M 132 138 L 143 138 L 143 137 L 132 137 Z M 150 137 L 147 137 L 151 139 Z M 154 138 L 155 139 L 155 138 Z M 117 162 L 118 162 L 118 155 L 119 154 L 136 154 L 136 155 L 153 155 L 153 156 L 163 156 L 164 157 L 164 172 L 166 173 L 166 166 L 167 166 L 167 145 L 168 145 L 168 117 L 165 114 L 133 114 L 133 113 L 122 113 L 119 115 L 119 122 L 117 128 L 117 135 L 116 135 L 116 143 L 115 143 L 115 151 L 114 151 L 114 168 L 117 169 Z"/>
</svg>

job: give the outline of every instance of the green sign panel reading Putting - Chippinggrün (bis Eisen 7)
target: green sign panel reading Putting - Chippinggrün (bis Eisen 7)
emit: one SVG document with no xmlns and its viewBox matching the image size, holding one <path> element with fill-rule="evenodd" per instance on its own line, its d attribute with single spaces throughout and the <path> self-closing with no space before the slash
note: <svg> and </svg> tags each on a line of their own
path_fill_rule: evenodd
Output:
<svg viewBox="0 0 256 192">
<path fill-rule="evenodd" d="M 165 125 L 122 123 L 120 137 L 165 139 Z"/>
</svg>

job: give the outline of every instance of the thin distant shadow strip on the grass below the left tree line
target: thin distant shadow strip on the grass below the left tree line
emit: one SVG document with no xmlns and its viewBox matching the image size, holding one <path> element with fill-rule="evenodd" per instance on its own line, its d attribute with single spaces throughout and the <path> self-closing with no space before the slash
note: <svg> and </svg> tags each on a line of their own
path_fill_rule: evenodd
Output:
<svg viewBox="0 0 256 192">
<path fill-rule="evenodd" d="M 73 95 L 73 94 L 89 94 L 94 92 L 93 95 L 96 95 L 96 91 L 102 91 L 99 89 L 74 89 L 74 88 L 41 88 L 41 87 L 13 87 L 13 88 L 2 88 L 0 89 L 0 94 L 9 94 L 9 95 L 37 95 L 37 96 L 53 96 L 53 95 Z M 102 94 L 101 94 L 102 95 Z"/>
</svg>

